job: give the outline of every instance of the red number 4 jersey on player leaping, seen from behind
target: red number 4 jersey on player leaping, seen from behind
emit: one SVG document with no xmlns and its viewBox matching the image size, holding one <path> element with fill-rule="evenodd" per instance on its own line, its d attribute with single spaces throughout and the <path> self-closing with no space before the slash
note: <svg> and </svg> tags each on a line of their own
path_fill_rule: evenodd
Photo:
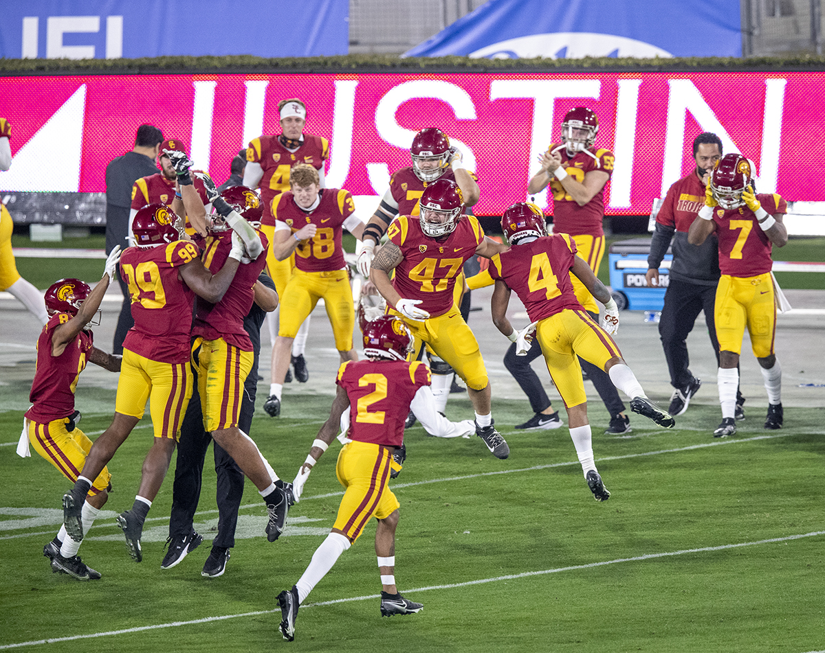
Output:
<svg viewBox="0 0 825 653">
<path fill-rule="evenodd" d="M 493 256 L 488 270 L 493 279 L 502 280 L 518 295 L 530 322 L 536 322 L 565 308 L 584 310 L 570 281 L 575 254 L 573 238 L 554 233 Z"/>
</svg>

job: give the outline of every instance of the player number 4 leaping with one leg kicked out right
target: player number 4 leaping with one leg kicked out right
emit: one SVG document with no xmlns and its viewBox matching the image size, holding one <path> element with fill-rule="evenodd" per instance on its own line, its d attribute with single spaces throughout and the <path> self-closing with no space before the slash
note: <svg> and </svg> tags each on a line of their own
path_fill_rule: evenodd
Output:
<svg viewBox="0 0 825 653">
<path fill-rule="evenodd" d="M 610 293 L 580 256 L 576 242 L 566 233 L 547 236 L 544 214 L 535 204 L 513 204 L 502 215 L 502 230 L 512 247 L 490 261 L 496 282 L 491 304 L 493 324 L 516 343 L 516 354 L 525 355 L 535 329 L 544 361 L 567 408 L 570 437 L 576 447 L 587 486 L 597 501 L 610 498 L 593 461 L 592 435 L 587 420 L 579 359 L 585 359 L 610 375 L 615 387 L 630 399 L 630 409 L 660 426 L 672 428 L 673 418 L 651 402 L 633 371 L 622 359 L 610 334 L 619 328 L 619 309 Z M 605 305 L 600 327 L 579 303 L 570 275 Z M 507 319 L 510 294 L 515 292 L 527 309 L 531 324 L 514 331 Z"/>
</svg>

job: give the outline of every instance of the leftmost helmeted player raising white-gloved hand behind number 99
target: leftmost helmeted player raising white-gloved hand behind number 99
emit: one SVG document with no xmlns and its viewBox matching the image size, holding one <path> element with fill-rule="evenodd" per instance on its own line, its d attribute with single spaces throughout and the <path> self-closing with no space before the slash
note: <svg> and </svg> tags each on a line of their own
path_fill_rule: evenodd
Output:
<svg viewBox="0 0 825 653">
<path fill-rule="evenodd" d="M 74 409 L 74 391 L 80 373 L 88 361 L 110 372 L 120 371 L 120 356 L 97 349 L 92 330 L 86 328 L 99 315 L 101 300 L 119 259 L 120 245 L 117 245 L 106 258 L 106 271 L 94 289 L 81 280 L 61 279 L 50 285 L 44 297 L 50 318 L 37 339 L 37 367 L 29 396 L 32 406 L 26 411 L 17 453 L 24 458 L 31 455 L 31 444 L 71 482 L 78 480 L 86 454 L 92 448 L 92 440 L 78 427 L 80 412 Z M 83 533 L 92 528 L 109 498 L 110 489 L 111 474 L 103 467 L 82 503 Z M 79 548 L 80 539 L 68 537 L 66 529 L 61 527 L 55 538 L 43 547 L 43 555 L 49 558 L 53 571 L 77 580 L 100 579 L 100 572 L 80 559 Z"/>
</svg>

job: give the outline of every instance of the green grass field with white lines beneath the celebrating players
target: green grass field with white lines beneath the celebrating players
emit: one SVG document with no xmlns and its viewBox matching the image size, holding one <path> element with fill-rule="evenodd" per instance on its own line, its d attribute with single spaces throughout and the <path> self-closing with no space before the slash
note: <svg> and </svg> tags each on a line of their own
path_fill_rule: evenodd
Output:
<svg viewBox="0 0 825 653">
<path fill-rule="evenodd" d="M 78 406 L 84 398 L 114 402 L 112 391 L 80 394 Z M 288 480 L 329 403 L 296 395 L 278 420 L 257 414 L 252 436 Z M 718 406 L 691 404 L 676 430 L 635 420 L 634 433 L 617 438 L 594 427 L 596 463 L 613 493 L 600 504 L 566 428 L 503 426 L 517 423 L 526 406 L 494 406 L 512 449 L 506 461 L 476 438 L 408 430 L 408 460 L 392 483 L 402 506 L 396 578 L 424 610 L 380 616 L 373 522 L 300 608 L 291 644 L 277 630 L 276 596 L 295 583 L 335 519 L 337 443 L 276 543 L 266 542 L 265 510 L 247 483 L 227 571 L 205 579 L 208 541 L 160 569 L 173 469 L 149 514 L 142 563 L 128 557 L 115 526 L 138 486 L 150 437 L 142 424 L 110 464 L 111 512 L 81 547 L 103 574 L 87 583 L 52 574 L 41 553 L 59 528 L 69 483 L 36 453 L 21 459 L 13 446 L 0 447 L 0 650 L 825 649 L 822 409 L 794 409 L 793 423 L 780 431 L 762 430 L 762 411 L 752 409 L 738 434 L 723 440 L 707 430 Z M 454 418 L 468 410 L 466 398 L 450 400 Z M 110 419 L 84 415 L 81 426 L 94 438 Z M 3 444 L 16 440 L 19 413 L 0 413 L 0 428 Z M 196 515 L 206 540 L 216 520 L 210 458 Z"/>
</svg>

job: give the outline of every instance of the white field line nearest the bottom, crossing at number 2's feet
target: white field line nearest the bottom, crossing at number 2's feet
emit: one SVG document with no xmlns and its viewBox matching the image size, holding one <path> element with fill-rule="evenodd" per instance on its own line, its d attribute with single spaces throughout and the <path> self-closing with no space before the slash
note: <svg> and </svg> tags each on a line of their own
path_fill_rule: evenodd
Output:
<svg viewBox="0 0 825 653">
<path fill-rule="evenodd" d="M 788 535 L 785 538 L 769 538 L 763 540 L 757 540 L 757 542 L 741 542 L 737 544 L 722 544 L 718 547 L 700 547 L 700 548 L 693 548 L 693 549 L 682 549 L 681 551 L 668 551 L 662 553 L 648 553 L 644 556 L 634 556 L 628 558 L 616 558 L 615 560 L 606 560 L 601 562 L 590 562 L 587 565 L 573 565 L 573 566 L 566 566 L 566 567 L 557 567 L 555 569 L 545 569 L 543 571 L 525 571 L 521 574 L 508 574 L 502 576 L 494 576 L 493 578 L 481 578 L 479 580 L 468 580 L 464 583 L 452 583 L 450 585 L 430 585 L 428 587 L 419 587 L 413 590 L 405 590 L 409 594 L 413 594 L 414 592 L 428 592 L 431 590 L 454 590 L 458 587 L 469 587 L 470 585 L 484 585 L 486 583 L 497 583 L 501 580 L 516 580 L 519 578 L 530 578 L 530 576 L 536 575 L 547 575 L 547 574 L 558 574 L 562 571 L 577 571 L 581 569 L 592 569 L 593 567 L 597 566 L 606 566 L 606 565 L 615 565 L 619 564 L 620 562 L 638 562 L 643 560 L 655 560 L 657 558 L 662 557 L 673 557 L 673 556 L 684 556 L 687 553 L 705 553 L 705 552 L 713 552 L 713 551 L 724 551 L 725 549 L 733 549 L 733 548 L 740 548 L 740 547 L 753 547 L 757 544 L 771 544 L 777 542 L 789 542 L 790 540 L 797 540 L 802 538 L 813 538 L 817 537 L 818 535 L 825 535 L 825 531 L 813 531 L 813 533 L 804 533 L 801 535 Z M 380 594 L 367 594 L 365 596 L 353 596 L 348 599 L 333 599 L 332 601 L 321 601 L 314 604 L 306 604 L 302 605 L 301 607 L 306 608 L 317 608 L 324 605 L 335 605 L 335 604 L 342 604 L 342 603 L 352 603 L 354 601 L 364 601 L 366 599 L 378 599 L 380 598 Z M 191 621 L 185 622 L 169 622 L 169 623 L 156 623 L 152 626 L 136 626 L 134 628 L 123 628 L 121 630 L 116 631 L 106 631 L 106 632 L 92 632 L 87 635 L 72 635 L 69 637 L 54 637 L 50 639 L 43 639 L 43 640 L 35 640 L 35 641 L 21 641 L 15 644 L 4 644 L 0 646 L 0 651 L 5 649 L 12 649 L 12 648 L 20 648 L 21 646 L 36 646 L 38 644 L 55 644 L 59 641 L 76 641 L 81 639 L 93 639 L 96 637 L 108 637 L 111 635 L 124 635 L 130 632 L 143 632 L 149 630 L 158 630 L 160 628 L 171 628 L 171 627 L 178 627 L 178 626 L 191 626 L 197 623 L 208 623 L 208 622 L 216 622 L 216 621 L 224 621 L 225 619 L 234 619 L 239 617 L 257 617 L 262 614 L 271 614 L 276 613 L 280 608 L 276 608 L 275 610 L 257 610 L 256 612 L 249 612 L 249 613 L 238 613 L 238 614 L 224 614 L 218 617 L 204 617 L 200 619 L 192 619 Z M 811 653 L 822 653 L 821 651 L 811 651 Z"/>
</svg>

